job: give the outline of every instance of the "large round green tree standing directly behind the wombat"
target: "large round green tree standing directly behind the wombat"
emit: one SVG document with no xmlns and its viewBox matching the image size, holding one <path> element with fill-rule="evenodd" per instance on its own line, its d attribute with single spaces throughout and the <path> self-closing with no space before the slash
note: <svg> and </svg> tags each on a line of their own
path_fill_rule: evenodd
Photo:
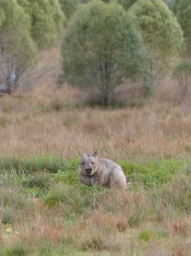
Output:
<svg viewBox="0 0 191 256">
<path fill-rule="evenodd" d="M 62 67 L 73 84 L 99 90 L 108 105 L 124 79 L 135 79 L 147 58 L 142 38 L 117 3 L 99 0 L 72 16 L 62 42 Z"/>
</svg>

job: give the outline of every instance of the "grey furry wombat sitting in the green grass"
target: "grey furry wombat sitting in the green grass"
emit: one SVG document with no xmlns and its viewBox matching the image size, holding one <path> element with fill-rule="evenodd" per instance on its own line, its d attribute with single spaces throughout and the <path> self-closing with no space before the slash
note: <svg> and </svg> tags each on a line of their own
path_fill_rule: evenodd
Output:
<svg viewBox="0 0 191 256">
<path fill-rule="evenodd" d="M 78 166 L 78 181 L 90 186 L 99 185 L 108 189 L 126 188 L 124 172 L 113 160 L 97 157 L 94 154 L 82 154 L 79 152 L 80 164 Z"/>
</svg>

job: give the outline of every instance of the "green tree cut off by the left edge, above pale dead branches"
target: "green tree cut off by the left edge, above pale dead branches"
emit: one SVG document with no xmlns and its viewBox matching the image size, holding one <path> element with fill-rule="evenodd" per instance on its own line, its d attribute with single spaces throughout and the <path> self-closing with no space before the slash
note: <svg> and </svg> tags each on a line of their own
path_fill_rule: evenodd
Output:
<svg viewBox="0 0 191 256">
<path fill-rule="evenodd" d="M 9 92 L 37 53 L 29 16 L 15 0 L 0 3 L 0 35 L 0 90 Z"/>
</svg>

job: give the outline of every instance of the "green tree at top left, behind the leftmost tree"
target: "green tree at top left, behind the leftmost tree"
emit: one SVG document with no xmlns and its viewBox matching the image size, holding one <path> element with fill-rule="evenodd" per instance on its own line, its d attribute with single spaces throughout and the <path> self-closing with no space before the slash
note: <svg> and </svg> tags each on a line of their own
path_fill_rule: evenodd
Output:
<svg viewBox="0 0 191 256">
<path fill-rule="evenodd" d="M 59 0 L 18 0 L 31 20 L 32 38 L 38 48 L 52 46 L 61 38 L 65 15 Z"/>
</svg>

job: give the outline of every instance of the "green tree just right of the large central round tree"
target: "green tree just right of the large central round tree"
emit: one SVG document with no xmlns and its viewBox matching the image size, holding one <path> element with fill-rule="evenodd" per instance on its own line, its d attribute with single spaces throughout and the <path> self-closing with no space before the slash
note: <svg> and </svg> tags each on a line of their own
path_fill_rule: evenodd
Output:
<svg viewBox="0 0 191 256">
<path fill-rule="evenodd" d="M 165 69 L 171 67 L 182 50 L 182 29 L 176 17 L 161 0 L 138 0 L 129 9 L 137 29 L 153 62 L 148 65 L 153 70 L 153 83 L 159 84 Z"/>
</svg>

